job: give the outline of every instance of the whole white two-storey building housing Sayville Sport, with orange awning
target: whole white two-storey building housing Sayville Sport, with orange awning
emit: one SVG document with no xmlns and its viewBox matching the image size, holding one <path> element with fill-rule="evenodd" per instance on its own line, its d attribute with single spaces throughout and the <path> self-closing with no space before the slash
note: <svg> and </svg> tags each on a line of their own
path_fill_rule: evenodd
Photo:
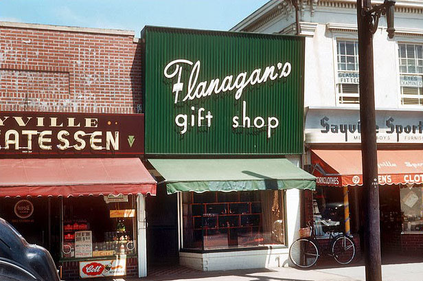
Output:
<svg viewBox="0 0 423 281">
<path fill-rule="evenodd" d="M 350 211 L 343 208 L 339 221 L 349 222 L 343 227 L 359 243 L 361 192 L 356 186 L 362 185 L 361 154 L 354 152 L 361 138 L 356 1 L 298 0 L 298 5 L 300 34 L 306 36 L 303 164 L 318 177 L 315 222 L 322 219 L 325 205 L 344 205 L 349 199 Z M 271 0 L 231 31 L 295 35 L 295 14 L 291 1 Z M 378 155 L 383 161 L 378 164 L 382 254 L 398 249 L 421 254 L 423 238 L 415 234 L 423 233 L 423 177 L 416 176 L 423 174 L 423 1 L 396 1 L 394 27 L 390 39 L 381 16 L 374 34 L 378 147 L 385 150 Z M 346 157 L 345 150 L 357 159 Z"/>
</svg>

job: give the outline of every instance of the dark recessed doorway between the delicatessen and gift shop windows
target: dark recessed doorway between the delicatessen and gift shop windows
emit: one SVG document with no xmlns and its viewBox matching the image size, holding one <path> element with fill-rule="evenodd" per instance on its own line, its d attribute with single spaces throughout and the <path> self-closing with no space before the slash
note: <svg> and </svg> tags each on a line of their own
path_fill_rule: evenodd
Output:
<svg viewBox="0 0 423 281">
<path fill-rule="evenodd" d="M 157 186 L 156 196 L 146 197 L 148 265 L 177 264 L 179 258 L 177 196 Z"/>
</svg>

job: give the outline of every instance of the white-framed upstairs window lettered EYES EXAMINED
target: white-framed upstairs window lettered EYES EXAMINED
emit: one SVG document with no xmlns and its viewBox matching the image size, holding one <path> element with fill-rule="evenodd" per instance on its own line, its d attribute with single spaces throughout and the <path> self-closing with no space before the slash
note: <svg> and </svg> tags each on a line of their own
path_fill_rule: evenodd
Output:
<svg viewBox="0 0 423 281">
<path fill-rule="evenodd" d="M 423 105 L 423 45 L 398 44 L 401 104 Z"/>
</svg>

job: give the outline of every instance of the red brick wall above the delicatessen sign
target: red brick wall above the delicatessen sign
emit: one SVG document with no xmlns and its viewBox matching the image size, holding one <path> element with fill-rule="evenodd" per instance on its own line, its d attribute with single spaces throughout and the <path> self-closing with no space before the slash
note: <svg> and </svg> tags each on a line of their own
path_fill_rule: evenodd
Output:
<svg viewBox="0 0 423 281">
<path fill-rule="evenodd" d="M 132 32 L 0 22 L 0 110 L 139 113 Z"/>
</svg>

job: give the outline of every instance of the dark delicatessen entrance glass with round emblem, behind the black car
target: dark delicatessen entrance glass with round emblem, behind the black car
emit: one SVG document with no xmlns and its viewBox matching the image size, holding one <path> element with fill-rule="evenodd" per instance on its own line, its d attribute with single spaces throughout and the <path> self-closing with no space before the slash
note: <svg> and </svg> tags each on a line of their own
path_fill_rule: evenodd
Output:
<svg viewBox="0 0 423 281">
<path fill-rule="evenodd" d="M 0 217 L 4 218 L 30 244 L 45 247 L 55 262 L 60 256 L 59 198 L 1 198 Z"/>
</svg>

